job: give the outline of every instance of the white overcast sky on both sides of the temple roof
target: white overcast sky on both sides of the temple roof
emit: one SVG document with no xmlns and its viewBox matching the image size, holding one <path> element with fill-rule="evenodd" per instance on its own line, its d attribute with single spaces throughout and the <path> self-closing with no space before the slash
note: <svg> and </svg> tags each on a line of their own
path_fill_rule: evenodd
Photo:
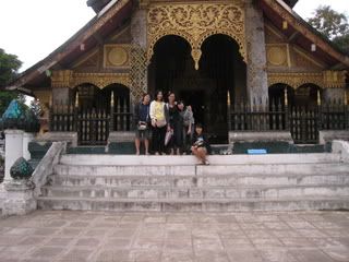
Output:
<svg viewBox="0 0 349 262">
<path fill-rule="evenodd" d="M 320 4 L 349 15 L 348 0 L 299 0 L 294 10 L 306 19 Z M 95 15 L 86 0 L 2 0 L 0 7 L 0 48 L 23 61 L 21 71 L 44 59 Z"/>
</svg>

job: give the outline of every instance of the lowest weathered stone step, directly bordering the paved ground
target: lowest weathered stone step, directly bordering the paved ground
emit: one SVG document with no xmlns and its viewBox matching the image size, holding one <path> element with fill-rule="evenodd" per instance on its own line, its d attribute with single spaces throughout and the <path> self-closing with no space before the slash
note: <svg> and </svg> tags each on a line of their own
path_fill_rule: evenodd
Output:
<svg viewBox="0 0 349 262">
<path fill-rule="evenodd" d="M 237 211 L 296 211 L 296 210 L 349 210 L 349 196 L 342 198 L 285 198 L 261 199 L 113 199 L 113 198 L 52 198 L 39 196 L 41 210 L 84 211 L 147 211 L 147 212 L 237 212 Z"/>
</svg>

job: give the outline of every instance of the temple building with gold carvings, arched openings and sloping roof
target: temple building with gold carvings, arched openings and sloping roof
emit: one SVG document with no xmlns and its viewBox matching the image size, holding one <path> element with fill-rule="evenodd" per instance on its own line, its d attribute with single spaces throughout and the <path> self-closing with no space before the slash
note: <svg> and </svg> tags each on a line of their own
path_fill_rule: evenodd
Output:
<svg viewBox="0 0 349 262">
<path fill-rule="evenodd" d="M 95 17 L 8 88 L 46 106 L 43 132 L 79 145 L 132 140 L 133 106 L 157 90 L 192 105 L 212 143 L 252 131 L 317 143 L 349 128 L 349 57 L 296 3 L 88 0 Z"/>
</svg>

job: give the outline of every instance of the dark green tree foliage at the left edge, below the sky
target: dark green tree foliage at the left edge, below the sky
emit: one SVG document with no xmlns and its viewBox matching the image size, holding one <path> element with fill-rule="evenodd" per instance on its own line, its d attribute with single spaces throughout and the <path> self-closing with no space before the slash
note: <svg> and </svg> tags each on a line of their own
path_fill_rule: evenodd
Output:
<svg viewBox="0 0 349 262">
<path fill-rule="evenodd" d="M 16 78 L 21 66 L 22 62 L 15 55 L 7 53 L 0 48 L 0 88 Z"/>
</svg>

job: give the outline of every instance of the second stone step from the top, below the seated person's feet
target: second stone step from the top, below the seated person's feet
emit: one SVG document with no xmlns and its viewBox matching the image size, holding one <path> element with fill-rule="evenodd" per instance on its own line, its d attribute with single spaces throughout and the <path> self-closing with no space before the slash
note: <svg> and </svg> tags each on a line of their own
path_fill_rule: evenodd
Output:
<svg viewBox="0 0 349 262">
<path fill-rule="evenodd" d="M 349 164 L 230 164 L 209 166 L 91 166 L 57 165 L 56 175 L 64 176 L 226 176 L 226 175 L 325 175 L 348 174 Z"/>
</svg>

